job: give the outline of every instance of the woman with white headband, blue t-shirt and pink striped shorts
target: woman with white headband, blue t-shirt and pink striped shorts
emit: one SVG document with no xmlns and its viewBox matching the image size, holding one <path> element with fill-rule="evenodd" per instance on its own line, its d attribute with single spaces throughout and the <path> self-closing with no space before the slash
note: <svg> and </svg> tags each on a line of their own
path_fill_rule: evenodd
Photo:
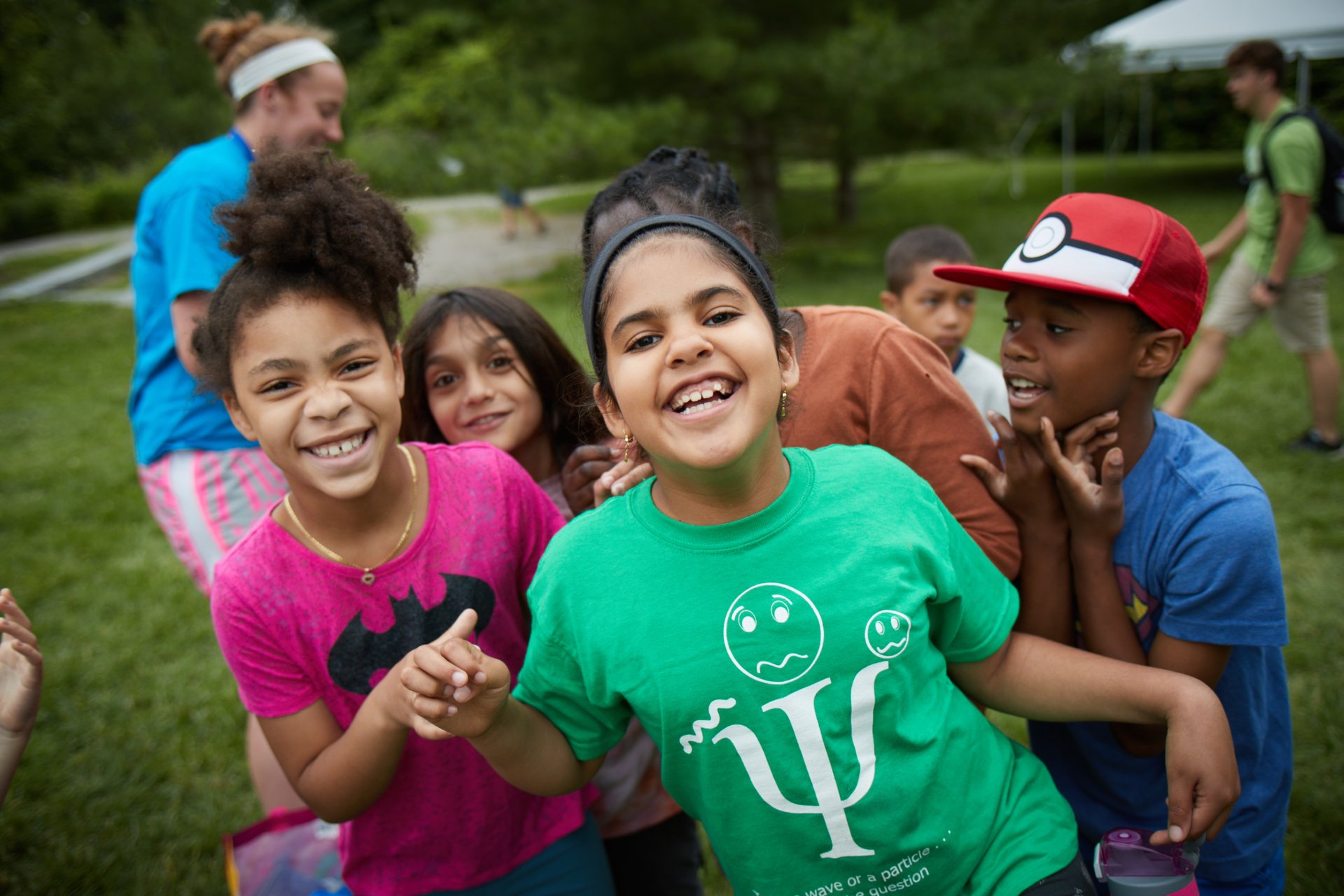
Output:
<svg viewBox="0 0 1344 896">
<path fill-rule="evenodd" d="M 149 509 L 202 591 L 214 567 L 285 493 L 255 442 L 239 435 L 223 403 L 198 390 L 192 333 L 215 285 L 234 265 L 215 208 L 241 199 L 253 159 L 341 138 L 345 74 L 310 27 L 219 19 L 198 38 L 234 103 L 228 133 L 190 146 L 140 196 L 130 283 L 136 365 L 128 411 Z M 262 809 L 298 807 L 255 719 L 249 766 Z"/>
</svg>

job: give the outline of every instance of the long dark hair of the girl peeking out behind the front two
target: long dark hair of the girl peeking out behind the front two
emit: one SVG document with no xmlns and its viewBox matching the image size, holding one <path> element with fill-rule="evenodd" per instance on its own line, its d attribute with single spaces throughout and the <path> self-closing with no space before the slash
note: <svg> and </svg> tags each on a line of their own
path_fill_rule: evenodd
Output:
<svg viewBox="0 0 1344 896">
<path fill-rule="evenodd" d="M 426 301 L 406 328 L 402 340 L 406 364 L 403 441 L 445 441 L 429 410 L 425 368 L 430 343 L 445 322 L 457 317 L 489 324 L 513 345 L 524 376 L 542 399 L 542 426 L 550 435 L 556 465 L 563 466 L 574 449 L 601 437 L 587 375 L 546 318 L 513 293 L 464 286 Z"/>
</svg>

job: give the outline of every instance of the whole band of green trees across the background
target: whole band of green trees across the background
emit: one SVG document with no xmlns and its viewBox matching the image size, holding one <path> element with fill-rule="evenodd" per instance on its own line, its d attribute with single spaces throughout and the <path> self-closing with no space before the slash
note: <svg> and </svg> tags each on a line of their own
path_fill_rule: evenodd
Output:
<svg viewBox="0 0 1344 896">
<path fill-rule="evenodd" d="M 870 156 L 999 152 L 1028 118 L 1052 150 L 1064 107 L 1079 148 L 1132 148 L 1138 79 L 1113 54 L 1067 67 L 1060 50 L 1150 3 L 0 0 L 0 235 L 125 218 L 163 159 L 219 133 L 228 101 L 195 35 L 238 9 L 337 32 L 341 152 L 384 189 L 603 177 L 661 142 L 702 145 L 771 226 L 786 159 L 829 160 L 847 222 Z M 1327 113 L 1341 67 L 1313 64 Z M 1222 73 L 1152 83 L 1154 148 L 1239 141 Z"/>
</svg>

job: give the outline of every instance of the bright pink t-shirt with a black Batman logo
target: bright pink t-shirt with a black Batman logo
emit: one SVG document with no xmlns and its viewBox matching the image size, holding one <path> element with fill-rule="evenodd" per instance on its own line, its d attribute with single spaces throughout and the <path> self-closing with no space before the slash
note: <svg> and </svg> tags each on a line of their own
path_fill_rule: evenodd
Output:
<svg viewBox="0 0 1344 896">
<path fill-rule="evenodd" d="M 216 567 L 215 631 L 249 712 L 288 716 L 321 700 L 347 728 L 387 669 L 469 606 L 477 642 L 516 684 L 528 633 L 521 595 L 563 520 L 499 449 L 417 447 L 429 469 L 427 521 L 374 584 L 269 513 Z M 411 733 L 387 791 L 340 826 L 344 877 L 371 896 L 476 887 L 577 830 L 593 798 L 524 794 L 465 740 Z"/>
</svg>

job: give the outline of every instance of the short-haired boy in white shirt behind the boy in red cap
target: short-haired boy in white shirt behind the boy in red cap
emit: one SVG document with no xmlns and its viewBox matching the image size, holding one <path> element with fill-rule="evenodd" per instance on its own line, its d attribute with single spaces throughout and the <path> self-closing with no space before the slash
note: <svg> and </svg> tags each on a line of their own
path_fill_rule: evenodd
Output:
<svg viewBox="0 0 1344 896">
<path fill-rule="evenodd" d="M 966 240 L 946 227 L 915 227 L 887 249 L 887 289 L 882 306 L 937 345 L 984 419 L 986 411 L 1008 416 L 1003 371 L 962 343 L 976 320 L 976 290 L 935 277 L 939 265 L 973 263 Z M 993 427 L 989 427 L 991 433 Z"/>
</svg>

